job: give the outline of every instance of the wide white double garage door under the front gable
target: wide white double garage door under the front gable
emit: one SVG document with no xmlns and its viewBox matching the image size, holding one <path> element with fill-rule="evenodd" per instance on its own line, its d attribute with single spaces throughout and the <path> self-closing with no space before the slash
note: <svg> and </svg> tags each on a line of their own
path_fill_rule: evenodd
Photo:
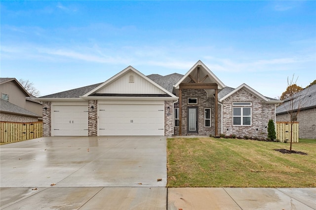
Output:
<svg viewBox="0 0 316 210">
<path fill-rule="evenodd" d="M 163 104 L 100 104 L 98 136 L 164 136 Z"/>
</svg>

